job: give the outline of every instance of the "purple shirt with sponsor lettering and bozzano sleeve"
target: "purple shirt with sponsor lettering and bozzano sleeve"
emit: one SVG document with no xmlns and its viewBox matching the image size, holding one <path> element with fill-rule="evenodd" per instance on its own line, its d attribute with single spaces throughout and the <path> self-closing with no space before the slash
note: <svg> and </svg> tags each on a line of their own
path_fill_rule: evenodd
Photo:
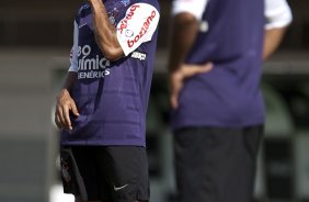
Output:
<svg viewBox="0 0 309 202">
<path fill-rule="evenodd" d="M 145 146 L 146 111 L 153 71 L 159 4 L 157 0 L 105 0 L 125 57 L 108 61 L 95 43 L 91 8 L 76 18 L 71 89 L 80 116 L 62 131 L 61 145 Z"/>
</svg>

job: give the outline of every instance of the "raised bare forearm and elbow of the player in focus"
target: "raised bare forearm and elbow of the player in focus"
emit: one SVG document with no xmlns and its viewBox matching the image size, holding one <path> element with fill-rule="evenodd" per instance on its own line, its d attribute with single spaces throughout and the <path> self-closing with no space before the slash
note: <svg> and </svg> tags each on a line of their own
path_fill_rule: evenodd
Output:
<svg viewBox="0 0 309 202">
<path fill-rule="evenodd" d="M 94 22 L 94 34 L 96 43 L 108 60 L 116 60 L 124 56 L 118 43 L 116 29 L 110 23 L 105 7 L 102 0 L 89 0 Z"/>
</svg>

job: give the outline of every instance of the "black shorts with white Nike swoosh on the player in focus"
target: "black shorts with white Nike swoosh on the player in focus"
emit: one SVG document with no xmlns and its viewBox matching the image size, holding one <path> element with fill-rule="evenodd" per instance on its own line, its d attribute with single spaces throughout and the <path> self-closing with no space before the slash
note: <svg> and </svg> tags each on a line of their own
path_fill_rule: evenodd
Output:
<svg viewBox="0 0 309 202">
<path fill-rule="evenodd" d="M 62 147 L 61 179 L 65 193 L 84 201 L 134 202 L 149 200 L 145 147 Z"/>
</svg>

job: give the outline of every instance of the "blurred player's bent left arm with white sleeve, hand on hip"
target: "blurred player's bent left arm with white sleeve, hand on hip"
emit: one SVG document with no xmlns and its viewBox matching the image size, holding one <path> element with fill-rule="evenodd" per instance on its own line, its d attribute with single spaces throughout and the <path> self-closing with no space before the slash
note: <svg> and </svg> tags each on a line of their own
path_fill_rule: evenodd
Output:
<svg viewBox="0 0 309 202">
<path fill-rule="evenodd" d="M 199 21 L 208 0 L 174 0 L 171 33 L 171 49 L 168 61 L 170 79 L 170 102 L 173 109 L 179 106 L 179 94 L 185 79 L 211 69 L 211 64 L 184 64 L 185 58 L 195 43 Z"/>
</svg>

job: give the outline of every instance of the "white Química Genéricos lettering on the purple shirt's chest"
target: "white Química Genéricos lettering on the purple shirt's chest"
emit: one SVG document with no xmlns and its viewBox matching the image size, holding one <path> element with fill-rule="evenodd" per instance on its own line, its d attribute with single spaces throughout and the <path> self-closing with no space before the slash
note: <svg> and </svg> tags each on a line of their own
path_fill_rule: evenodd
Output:
<svg viewBox="0 0 309 202">
<path fill-rule="evenodd" d="M 103 78 L 110 75 L 110 60 L 91 55 L 91 46 L 78 47 L 78 79 Z"/>
</svg>

